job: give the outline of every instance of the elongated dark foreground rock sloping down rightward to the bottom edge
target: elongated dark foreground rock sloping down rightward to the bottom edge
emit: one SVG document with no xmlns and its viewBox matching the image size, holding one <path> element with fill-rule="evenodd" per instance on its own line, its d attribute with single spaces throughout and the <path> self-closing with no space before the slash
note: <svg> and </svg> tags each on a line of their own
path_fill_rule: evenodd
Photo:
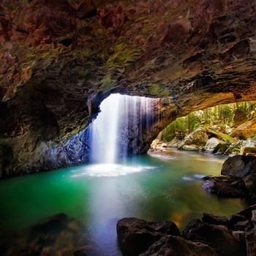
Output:
<svg viewBox="0 0 256 256">
<path fill-rule="evenodd" d="M 208 225 L 201 222 L 200 219 L 192 219 L 181 234 L 190 241 L 207 244 L 221 256 L 243 255 L 238 241 L 218 225 Z"/>
</svg>

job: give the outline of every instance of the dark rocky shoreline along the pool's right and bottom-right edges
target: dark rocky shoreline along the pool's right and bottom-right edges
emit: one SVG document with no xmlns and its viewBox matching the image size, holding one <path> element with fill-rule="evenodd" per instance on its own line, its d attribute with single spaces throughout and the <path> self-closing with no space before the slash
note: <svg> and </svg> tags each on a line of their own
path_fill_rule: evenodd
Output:
<svg viewBox="0 0 256 256">
<path fill-rule="evenodd" d="M 207 176 L 201 187 L 224 197 L 241 197 L 252 204 L 230 217 L 203 213 L 181 232 L 173 222 L 124 218 L 116 225 L 124 256 L 255 256 L 256 157 L 229 157 L 222 166 L 227 176 Z"/>
</svg>

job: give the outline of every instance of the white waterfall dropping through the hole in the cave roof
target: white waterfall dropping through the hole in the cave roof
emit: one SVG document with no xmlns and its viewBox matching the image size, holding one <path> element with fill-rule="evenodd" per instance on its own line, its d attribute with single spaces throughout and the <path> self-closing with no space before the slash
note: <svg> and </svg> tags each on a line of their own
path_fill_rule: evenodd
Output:
<svg viewBox="0 0 256 256">
<path fill-rule="evenodd" d="M 92 122 L 91 162 L 113 164 L 137 154 L 142 133 L 153 123 L 153 99 L 111 94 Z"/>
</svg>

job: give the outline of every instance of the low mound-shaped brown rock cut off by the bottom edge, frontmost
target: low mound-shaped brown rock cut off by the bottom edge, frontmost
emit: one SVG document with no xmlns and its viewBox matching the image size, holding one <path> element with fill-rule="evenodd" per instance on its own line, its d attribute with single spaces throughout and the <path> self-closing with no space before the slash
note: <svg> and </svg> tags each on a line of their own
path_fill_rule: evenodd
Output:
<svg viewBox="0 0 256 256">
<path fill-rule="evenodd" d="M 202 255 L 217 256 L 214 249 L 206 244 L 187 241 L 178 236 L 163 236 L 159 241 L 149 247 L 148 251 L 140 256 L 181 256 L 181 255 Z"/>
</svg>

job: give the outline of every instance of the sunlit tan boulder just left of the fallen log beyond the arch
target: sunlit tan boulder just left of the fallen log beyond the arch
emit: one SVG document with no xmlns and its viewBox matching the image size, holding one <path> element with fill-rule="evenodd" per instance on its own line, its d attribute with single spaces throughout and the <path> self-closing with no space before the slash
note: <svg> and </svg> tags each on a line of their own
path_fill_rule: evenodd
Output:
<svg viewBox="0 0 256 256">
<path fill-rule="evenodd" d="M 207 140 L 208 140 L 208 135 L 206 133 L 206 129 L 204 129 L 203 127 L 199 127 L 194 132 L 189 133 L 189 135 L 187 135 L 184 138 L 179 148 L 184 149 L 184 146 L 193 146 L 193 148 L 197 148 L 196 150 L 198 150 L 199 147 L 206 145 Z M 190 150 L 190 149 L 184 149 L 184 150 Z M 192 150 L 195 150 L 195 149 L 192 149 Z"/>
</svg>

